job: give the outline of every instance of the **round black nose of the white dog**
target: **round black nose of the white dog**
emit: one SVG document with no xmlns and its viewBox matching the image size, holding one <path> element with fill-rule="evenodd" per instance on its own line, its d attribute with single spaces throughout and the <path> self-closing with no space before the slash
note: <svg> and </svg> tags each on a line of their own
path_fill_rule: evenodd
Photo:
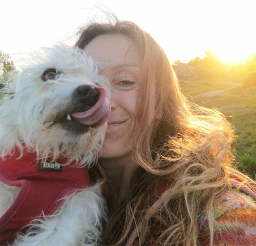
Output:
<svg viewBox="0 0 256 246">
<path fill-rule="evenodd" d="M 80 85 L 73 93 L 73 102 L 80 111 L 92 108 L 99 100 L 99 91 L 92 85 Z"/>
</svg>

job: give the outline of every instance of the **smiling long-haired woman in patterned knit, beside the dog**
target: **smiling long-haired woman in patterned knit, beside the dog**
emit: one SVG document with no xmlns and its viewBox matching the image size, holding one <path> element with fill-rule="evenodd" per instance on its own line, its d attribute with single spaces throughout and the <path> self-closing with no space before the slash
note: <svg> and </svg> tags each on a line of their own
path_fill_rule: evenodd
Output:
<svg viewBox="0 0 256 246">
<path fill-rule="evenodd" d="M 89 24 L 76 45 L 111 84 L 108 130 L 91 170 L 92 180 L 106 177 L 103 244 L 256 244 L 255 183 L 230 168 L 230 125 L 186 100 L 159 44 L 115 19 Z"/>
</svg>

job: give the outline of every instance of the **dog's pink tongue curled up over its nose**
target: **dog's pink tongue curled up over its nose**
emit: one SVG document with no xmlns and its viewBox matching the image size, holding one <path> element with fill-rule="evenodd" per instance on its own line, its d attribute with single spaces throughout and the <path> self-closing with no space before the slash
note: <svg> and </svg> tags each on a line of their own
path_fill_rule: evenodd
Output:
<svg viewBox="0 0 256 246">
<path fill-rule="evenodd" d="M 98 102 L 89 110 L 70 114 L 71 120 L 93 128 L 102 126 L 108 119 L 111 107 L 106 99 L 106 91 L 102 87 L 95 88 L 99 91 Z"/>
</svg>

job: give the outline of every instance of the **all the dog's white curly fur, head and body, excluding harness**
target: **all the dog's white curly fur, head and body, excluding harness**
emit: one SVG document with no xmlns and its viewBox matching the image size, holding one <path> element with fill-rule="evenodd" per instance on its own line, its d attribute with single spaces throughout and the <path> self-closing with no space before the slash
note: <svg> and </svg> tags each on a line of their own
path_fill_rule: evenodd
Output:
<svg viewBox="0 0 256 246">
<path fill-rule="evenodd" d="M 56 68 L 55 80 L 42 81 L 42 73 Z M 98 75 L 92 59 L 78 48 L 64 45 L 45 48 L 34 57 L 32 65 L 7 77 L 5 97 L 0 106 L 0 152 L 4 159 L 18 148 L 36 152 L 41 159 L 68 159 L 79 167 L 97 159 L 106 124 L 85 133 L 61 127 L 56 117 L 75 109 L 72 94 L 80 85 L 104 87 L 110 97 L 108 80 Z M 0 212 L 12 204 L 18 188 L 0 184 Z M 0 214 L 1 215 L 1 214 Z M 26 235 L 19 235 L 18 245 L 93 245 L 100 241 L 101 220 L 106 218 L 100 186 L 72 194 L 50 217 L 36 218 Z M 39 223 L 38 223 L 39 222 Z M 36 225 L 36 226 L 35 226 Z"/>
</svg>

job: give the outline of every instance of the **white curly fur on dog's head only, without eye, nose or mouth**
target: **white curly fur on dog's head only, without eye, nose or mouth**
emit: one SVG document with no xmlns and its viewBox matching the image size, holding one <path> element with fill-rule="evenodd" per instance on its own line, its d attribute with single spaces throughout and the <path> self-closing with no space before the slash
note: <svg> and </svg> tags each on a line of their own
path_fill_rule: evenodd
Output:
<svg viewBox="0 0 256 246">
<path fill-rule="evenodd" d="M 72 93 L 79 85 L 98 84 L 110 92 L 108 80 L 98 76 L 95 63 L 78 48 L 56 46 L 40 54 L 35 57 L 35 65 L 19 75 L 13 72 L 8 76 L 7 93 L 10 94 L 0 108 L 2 156 L 12 154 L 14 146 L 22 150 L 24 143 L 28 149 L 36 150 L 40 158 L 56 160 L 64 155 L 69 162 L 77 161 L 79 165 L 92 163 L 99 153 L 106 126 L 90 128 L 81 136 L 54 123 L 59 113 L 68 114 L 75 107 Z M 42 73 L 52 67 L 62 72 L 60 77 L 42 81 Z"/>
</svg>

